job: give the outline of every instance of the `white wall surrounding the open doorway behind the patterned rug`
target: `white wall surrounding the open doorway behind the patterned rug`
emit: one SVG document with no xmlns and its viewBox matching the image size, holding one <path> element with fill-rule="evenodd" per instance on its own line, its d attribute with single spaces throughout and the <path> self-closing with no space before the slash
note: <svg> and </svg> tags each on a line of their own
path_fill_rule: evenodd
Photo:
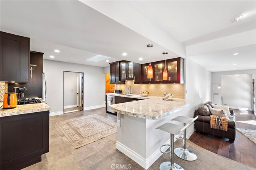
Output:
<svg viewBox="0 0 256 170">
<path fill-rule="evenodd" d="M 84 110 L 105 106 L 103 67 L 44 60 L 47 83 L 46 102 L 51 107 L 52 115 L 63 113 L 64 71 L 84 72 Z"/>
</svg>

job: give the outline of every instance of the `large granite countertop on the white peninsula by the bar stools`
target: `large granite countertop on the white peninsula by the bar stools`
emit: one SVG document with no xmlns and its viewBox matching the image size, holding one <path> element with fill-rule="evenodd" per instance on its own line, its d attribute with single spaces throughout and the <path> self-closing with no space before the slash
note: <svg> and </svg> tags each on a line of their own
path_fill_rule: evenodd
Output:
<svg viewBox="0 0 256 170">
<path fill-rule="evenodd" d="M 108 94 L 109 95 L 109 94 Z M 113 94 L 112 96 L 118 96 Z M 124 96 L 124 95 L 120 95 Z M 141 97 L 140 95 L 124 96 L 128 98 L 143 98 L 146 100 L 138 100 L 135 102 L 126 102 L 120 104 L 110 105 L 110 109 L 128 116 L 139 117 L 143 119 L 158 120 L 188 107 L 190 103 L 185 99 L 172 98 L 171 100 L 164 101 L 162 97 L 147 96 Z"/>
</svg>

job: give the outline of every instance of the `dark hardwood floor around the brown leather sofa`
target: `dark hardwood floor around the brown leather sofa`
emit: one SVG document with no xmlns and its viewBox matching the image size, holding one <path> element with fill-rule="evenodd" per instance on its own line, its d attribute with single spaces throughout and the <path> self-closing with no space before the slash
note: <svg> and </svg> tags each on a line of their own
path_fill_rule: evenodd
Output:
<svg viewBox="0 0 256 170">
<path fill-rule="evenodd" d="M 234 109 L 234 113 L 236 116 L 236 127 L 256 130 L 255 124 L 240 122 L 249 120 L 255 122 L 256 117 L 252 111 Z M 211 152 L 256 168 L 256 144 L 238 131 L 236 131 L 234 143 L 230 143 L 226 138 L 200 132 L 194 132 L 189 140 Z"/>
</svg>

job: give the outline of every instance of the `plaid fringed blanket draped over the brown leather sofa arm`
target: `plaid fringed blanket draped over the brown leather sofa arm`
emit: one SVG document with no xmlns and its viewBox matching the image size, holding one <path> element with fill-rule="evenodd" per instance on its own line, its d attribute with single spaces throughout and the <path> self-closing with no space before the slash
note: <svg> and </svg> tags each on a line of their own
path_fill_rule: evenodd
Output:
<svg viewBox="0 0 256 170">
<path fill-rule="evenodd" d="M 216 115 L 210 115 L 210 127 L 222 131 L 228 131 L 228 119 Z"/>
</svg>

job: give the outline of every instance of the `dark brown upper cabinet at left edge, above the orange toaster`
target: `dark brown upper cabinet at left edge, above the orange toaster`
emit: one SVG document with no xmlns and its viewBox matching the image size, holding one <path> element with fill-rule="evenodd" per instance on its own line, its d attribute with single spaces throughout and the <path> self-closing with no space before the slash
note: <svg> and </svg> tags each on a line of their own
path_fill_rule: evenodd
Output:
<svg viewBox="0 0 256 170">
<path fill-rule="evenodd" d="M 0 81 L 28 82 L 30 38 L 1 31 Z"/>
</svg>

